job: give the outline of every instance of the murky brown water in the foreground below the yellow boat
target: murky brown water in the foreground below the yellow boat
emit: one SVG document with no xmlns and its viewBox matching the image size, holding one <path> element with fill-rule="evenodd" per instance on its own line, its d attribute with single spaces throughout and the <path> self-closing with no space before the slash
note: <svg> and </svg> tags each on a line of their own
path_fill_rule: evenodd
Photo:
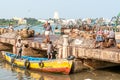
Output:
<svg viewBox="0 0 120 80">
<path fill-rule="evenodd" d="M 120 66 L 61 75 L 12 67 L 0 57 L 0 80 L 120 80 Z"/>
</svg>

